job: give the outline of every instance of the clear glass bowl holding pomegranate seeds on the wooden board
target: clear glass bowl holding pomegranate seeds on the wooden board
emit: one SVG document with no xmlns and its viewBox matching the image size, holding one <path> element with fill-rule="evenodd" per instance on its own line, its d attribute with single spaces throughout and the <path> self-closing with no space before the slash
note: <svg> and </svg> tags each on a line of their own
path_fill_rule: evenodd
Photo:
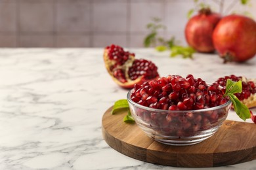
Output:
<svg viewBox="0 0 256 170">
<path fill-rule="evenodd" d="M 144 107 L 127 100 L 137 125 L 152 139 L 175 146 L 196 144 L 211 137 L 228 116 L 231 101 L 200 110 L 161 110 Z"/>
</svg>

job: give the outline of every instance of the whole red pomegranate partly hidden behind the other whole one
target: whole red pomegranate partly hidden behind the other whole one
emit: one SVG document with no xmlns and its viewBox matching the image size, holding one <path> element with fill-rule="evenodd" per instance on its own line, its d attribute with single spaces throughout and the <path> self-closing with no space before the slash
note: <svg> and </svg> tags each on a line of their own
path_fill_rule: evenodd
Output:
<svg viewBox="0 0 256 170">
<path fill-rule="evenodd" d="M 211 12 L 210 9 L 200 10 L 199 14 L 186 24 L 186 42 L 198 52 L 213 52 L 215 48 L 212 33 L 219 20 L 221 20 L 220 14 Z"/>
</svg>

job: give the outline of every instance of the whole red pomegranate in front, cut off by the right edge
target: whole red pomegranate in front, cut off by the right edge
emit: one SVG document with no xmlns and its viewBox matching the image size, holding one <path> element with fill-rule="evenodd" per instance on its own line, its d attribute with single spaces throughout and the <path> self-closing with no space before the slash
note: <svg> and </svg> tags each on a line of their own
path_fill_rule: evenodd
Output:
<svg viewBox="0 0 256 170">
<path fill-rule="evenodd" d="M 256 54 L 256 22 L 233 14 L 224 17 L 213 31 L 213 44 L 226 61 L 245 61 Z"/>
</svg>

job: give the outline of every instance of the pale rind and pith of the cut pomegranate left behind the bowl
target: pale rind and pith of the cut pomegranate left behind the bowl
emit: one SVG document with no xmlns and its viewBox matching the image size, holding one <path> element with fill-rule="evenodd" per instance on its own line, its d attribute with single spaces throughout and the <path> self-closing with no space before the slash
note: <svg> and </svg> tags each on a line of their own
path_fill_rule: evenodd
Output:
<svg viewBox="0 0 256 170">
<path fill-rule="evenodd" d="M 114 80 L 114 82 L 116 82 L 116 84 L 118 84 L 119 86 L 121 86 L 122 88 L 125 89 L 132 89 L 134 87 L 135 84 L 142 84 L 143 82 L 146 81 L 150 81 L 150 80 L 157 80 L 160 76 L 156 76 L 154 78 L 151 79 L 146 79 L 144 76 L 139 76 L 138 78 L 136 78 L 135 80 L 131 80 L 129 78 L 127 78 L 127 82 L 120 82 L 119 80 L 117 80 L 117 78 L 114 77 L 110 67 L 112 65 L 114 65 L 114 61 L 110 60 L 108 57 L 108 49 L 104 49 L 104 54 L 103 54 L 103 59 L 104 59 L 104 63 L 105 63 L 105 67 L 108 71 L 108 74 L 112 77 L 112 79 Z M 135 60 L 135 56 L 129 55 L 129 59 L 126 61 L 127 63 L 133 63 L 133 61 Z"/>
</svg>

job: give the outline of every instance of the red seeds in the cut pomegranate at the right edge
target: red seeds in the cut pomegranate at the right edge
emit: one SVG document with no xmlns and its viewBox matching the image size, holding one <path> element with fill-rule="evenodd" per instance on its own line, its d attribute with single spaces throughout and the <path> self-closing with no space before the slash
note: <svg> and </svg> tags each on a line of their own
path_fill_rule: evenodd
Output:
<svg viewBox="0 0 256 170">
<path fill-rule="evenodd" d="M 230 76 L 224 76 L 219 78 L 216 83 L 219 84 L 220 86 L 223 86 L 223 90 L 225 90 L 226 87 L 226 80 L 232 80 L 235 82 L 238 82 L 239 80 L 242 80 L 242 92 L 241 93 L 235 93 L 236 97 L 240 99 L 240 101 L 247 99 L 251 94 L 256 93 L 256 86 L 255 83 L 252 81 L 243 81 L 242 76 L 235 76 L 235 75 L 230 75 Z"/>
</svg>

